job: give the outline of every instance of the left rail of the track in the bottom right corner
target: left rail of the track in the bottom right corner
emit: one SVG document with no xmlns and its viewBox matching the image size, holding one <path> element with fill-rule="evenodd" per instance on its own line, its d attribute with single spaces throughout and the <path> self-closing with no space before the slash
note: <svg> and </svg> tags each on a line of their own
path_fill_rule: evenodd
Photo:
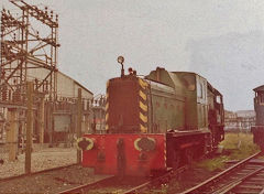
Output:
<svg viewBox="0 0 264 194">
<path fill-rule="evenodd" d="M 227 170 L 224 170 L 224 171 L 220 172 L 219 174 L 217 174 L 217 175 L 215 175 L 215 176 L 204 181 L 202 183 L 200 183 L 200 184 L 198 184 L 198 185 L 196 185 L 196 186 L 194 186 L 194 187 L 191 187 L 189 190 L 186 190 L 186 191 L 182 192 L 180 194 L 190 194 L 190 193 L 197 193 L 197 192 L 199 193 L 199 190 L 201 190 L 202 187 L 206 187 L 206 186 L 208 186 L 210 184 L 213 184 L 215 182 L 217 182 L 219 179 L 221 179 L 226 174 L 228 174 L 231 171 L 233 171 L 233 170 L 235 170 L 235 169 L 246 164 L 248 161 L 250 161 L 251 159 L 257 157 L 260 153 L 261 152 L 257 152 L 257 153 L 255 153 L 255 154 L 253 154 L 253 155 L 251 155 L 251 157 L 240 161 L 239 163 L 228 168 Z"/>
</svg>

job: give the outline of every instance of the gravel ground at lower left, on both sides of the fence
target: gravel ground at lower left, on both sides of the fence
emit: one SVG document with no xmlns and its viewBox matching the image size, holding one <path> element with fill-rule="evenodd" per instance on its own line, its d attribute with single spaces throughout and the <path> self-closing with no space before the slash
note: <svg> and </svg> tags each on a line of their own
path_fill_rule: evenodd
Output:
<svg viewBox="0 0 264 194">
<path fill-rule="evenodd" d="M 86 183 L 91 183 L 108 175 L 95 175 L 92 169 L 77 165 L 77 150 L 75 148 L 45 148 L 32 152 L 32 172 L 67 168 L 31 174 L 22 177 L 12 177 L 24 174 L 25 154 L 19 154 L 14 162 L 8 161 L 8 153 L 1 152 L 0 193 L 58 193 Z"/>
</svg>

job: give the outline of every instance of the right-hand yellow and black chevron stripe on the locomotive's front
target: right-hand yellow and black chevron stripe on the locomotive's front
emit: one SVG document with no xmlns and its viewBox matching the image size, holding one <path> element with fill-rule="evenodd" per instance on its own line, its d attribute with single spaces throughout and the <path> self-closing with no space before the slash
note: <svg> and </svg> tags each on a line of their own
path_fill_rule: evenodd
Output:
<svg viewBox="0 0 264 194">
<path fill-rule="evenodd" d="M 148 88 L 148 84 L 139 78 L 139 84 L 140 84 L 140 90 L 139 90 L 139 95 L 140 95 L 140 101 L 139 101 L 139 106 L 140 106 L 140 130 L 141 132 L 147 132 L 147 88 Z"/>
</svg>

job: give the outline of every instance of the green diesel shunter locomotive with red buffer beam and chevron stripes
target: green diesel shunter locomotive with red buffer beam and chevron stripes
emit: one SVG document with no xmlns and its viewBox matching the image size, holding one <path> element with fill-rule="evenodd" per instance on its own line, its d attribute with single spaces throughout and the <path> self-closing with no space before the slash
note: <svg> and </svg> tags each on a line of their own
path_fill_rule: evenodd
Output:
<svg viewBox="0 0 264 194">
<path fill-rule="evenodd" d="M 148 175 L 213 151 L 223 140 L 222 95 L 190 72 L 130 68 L 107 84 L 106 133 L 78 142 L 82 166 L 96 173 Z"/>
</svg>

